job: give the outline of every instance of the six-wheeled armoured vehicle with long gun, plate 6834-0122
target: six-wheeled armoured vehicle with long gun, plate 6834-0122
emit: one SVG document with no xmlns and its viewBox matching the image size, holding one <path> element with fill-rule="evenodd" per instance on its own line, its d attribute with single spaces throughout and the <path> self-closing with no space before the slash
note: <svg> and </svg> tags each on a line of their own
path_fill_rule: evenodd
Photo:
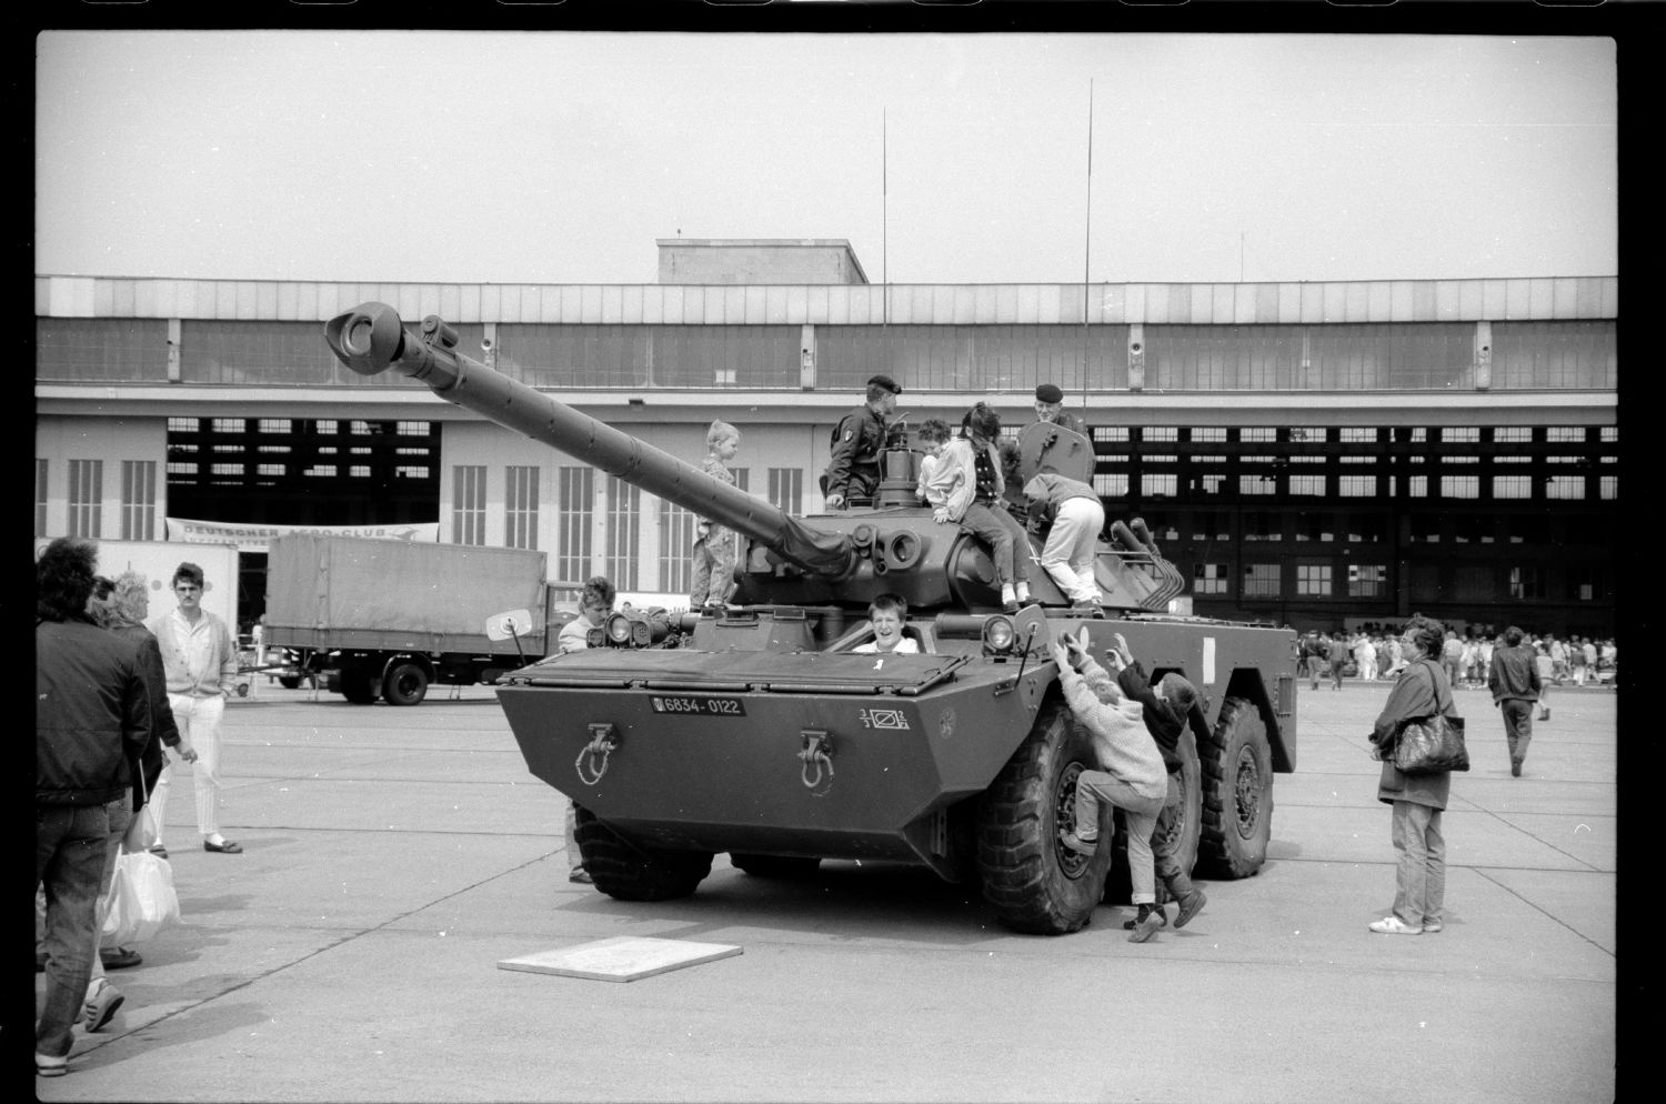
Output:
<svg viewBox="0 0 1666 1104">
<path fill-rule="evenodd" d="M 871 503 L 795 518 L 485 368 L 438 316 L 415 333 L 367 303 L 325 338 L 357 373 L 393 368 L 740 535 L 733 604 L 685 614 L 678 646 L 616 614 L 605 646 L 500 679 L 526 766 L 576 806 L 601 893 L 686 896 L 718 853 L 756 876 L 886 859 L 976 881 L 1016 931 L 1080 929 L 1120 851 L 1060 843 L 1091 748 L 1050 644 L 1083 628 L 1095 653 L 1123 633 L 1153 679 L 1181 671 L 1201 693 L 1211 736 L 1183 736 L 1185 861 L 1210 878 L 1261 868 L 1273 774 L 1296 763 L 1296 634 L 1166 613 L 1185 583 L 1145 526 L 1113 521 L 1098 550 L 1106 616 L 1073 613 L 1040 569 L 1031 604 L 1008 614 L 986 548 L 915 498 L 920 455 L 901 435 Z M 1021 480 L 1086 481 L 1093 446 L 1041 423 L 1020 436 L 1018 463 Z M 866 609 L 883 593 L 908 603 L 918 654 L 853 651 L 873 638 Z M 1115 824 L 1103 829 L 1111 839 Z"/>
</svg>

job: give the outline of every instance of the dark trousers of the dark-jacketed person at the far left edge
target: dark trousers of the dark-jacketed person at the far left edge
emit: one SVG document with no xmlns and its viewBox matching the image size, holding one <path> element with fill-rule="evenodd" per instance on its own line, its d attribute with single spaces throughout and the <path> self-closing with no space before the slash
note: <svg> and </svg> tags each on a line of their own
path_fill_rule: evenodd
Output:
<svg viewBox="0 0 1666 1104">
<path fill-rule="evenodd" d="M 102 804 L 35 808 L 35 884 L 47 891 L 47 1002 L 35 1026 L 40 1054 L 62 1057 L 75 1041 L 98 952 L 93 927 L 108 848 L 110 818 Z"/>
</svg>

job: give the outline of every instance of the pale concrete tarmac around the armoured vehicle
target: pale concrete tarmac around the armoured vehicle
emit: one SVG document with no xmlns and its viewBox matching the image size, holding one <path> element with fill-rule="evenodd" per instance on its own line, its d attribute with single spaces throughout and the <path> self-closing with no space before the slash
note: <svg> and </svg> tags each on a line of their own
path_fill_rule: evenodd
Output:
<svg viewBox="0 0 1666 1104">
<path fill-rule="evenodd" d="M 1258 878 L 1183 931 L 1126 906 L 1063 937 L 1000 927 L 930 873 L 718 856 L 688 899 L 566 881 L 561 798 L 486 688 L 410 709 L 270 684 L 227 709 L 223 829 L 178 771 L 182 922 L 112 971 L 45 1101 L 1613 1101 L 1616 693 L 1559 689 L 1509 776 L 1459 689 L 1446 929 L 1376 936 L 1389 811 L 1366 733 L 1386 683 L 1301 686 Z M 498 969 L 608 936 L 743 954 L 621 984 Z M 37 1001 L 42 977 L 37 974 Z"/>
</svg>

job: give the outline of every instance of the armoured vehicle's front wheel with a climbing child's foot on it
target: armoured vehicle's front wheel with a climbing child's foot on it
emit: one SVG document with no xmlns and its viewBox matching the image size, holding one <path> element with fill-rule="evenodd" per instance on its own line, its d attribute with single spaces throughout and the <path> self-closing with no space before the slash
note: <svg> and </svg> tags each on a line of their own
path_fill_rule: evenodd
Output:
<svg viewBox="0 0 1666 1104">
<path fill-rule="evenodd" d="M 1093 744 L 1063 701 L 1041 706 L 1030 736 L 983 794 L 978 873 L 996 919 L 1013 931 L 1061 936 L 1083 927 L 1111 866 L 1110 806 L 1101 806 L 1100 849 L 1081 856 L 1060 843 L 1076 826 L 1076 778 Z"/>
</svg>

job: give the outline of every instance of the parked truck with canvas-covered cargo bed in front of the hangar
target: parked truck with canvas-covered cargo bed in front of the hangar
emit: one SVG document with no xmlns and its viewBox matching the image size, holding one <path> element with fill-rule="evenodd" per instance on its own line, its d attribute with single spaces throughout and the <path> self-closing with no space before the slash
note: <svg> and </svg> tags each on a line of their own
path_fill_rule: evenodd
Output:
<svg viewBox="0 0 1666 1104">
<path fill-rule="evenodd" d="M 415 706 L 433 683 L 490 683 L 545 654 L 545 554 L 288 533 L 267 554 L 267 643 L 348 701 Z M 520 611 L 518 644 L 488 616 Z"/>
</svg>

